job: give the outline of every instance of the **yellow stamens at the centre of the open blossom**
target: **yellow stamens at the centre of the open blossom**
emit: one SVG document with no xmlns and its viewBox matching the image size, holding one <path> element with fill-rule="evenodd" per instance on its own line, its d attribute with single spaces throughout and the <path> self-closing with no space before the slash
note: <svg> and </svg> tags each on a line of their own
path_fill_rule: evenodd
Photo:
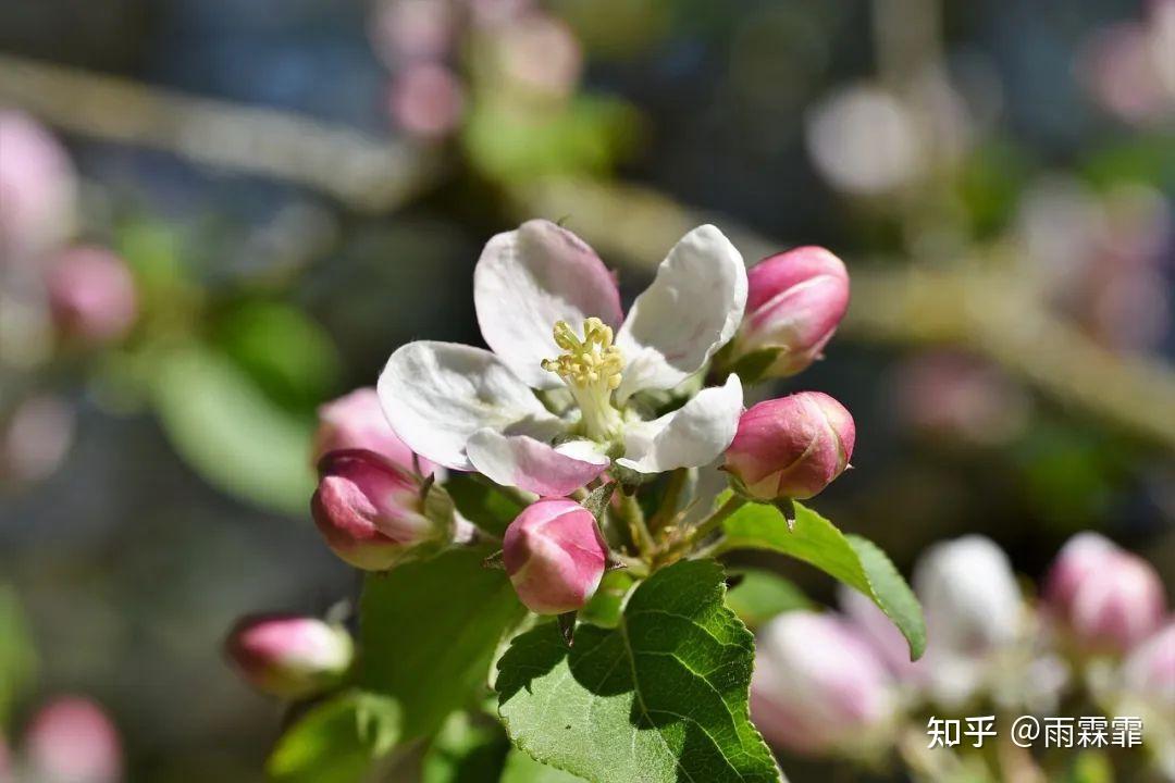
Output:
<svg viewBox="0 0 1175 783">
<path fill-rule="evenodd" d="M 622 424 L 620 413 L 612 406 L 612 390 L 620 385 L 624 360 L 612 337 L 612 328 L 599 318 L 584 322 L 582 338 L 568 322 L 556 322 L 555 344 L 564 353 L 543 360 L 543 369 L 557 374 L 571 390 L 583 413 L 584 433 L 597 441 L 615 438 Z"/>
</svg>

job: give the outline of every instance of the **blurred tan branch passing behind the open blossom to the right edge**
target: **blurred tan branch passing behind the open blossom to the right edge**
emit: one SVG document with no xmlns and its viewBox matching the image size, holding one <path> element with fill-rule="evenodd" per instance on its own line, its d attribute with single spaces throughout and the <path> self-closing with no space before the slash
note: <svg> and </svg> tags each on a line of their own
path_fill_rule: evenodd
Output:
<svg viewBox="0 0 1175 783">
<path fill-rule="evenodd" d="M 598 248 L 651 270 L 699 223 L 717 222 L 748 263 L 786 243 L 639 187 L 550 182 L 517 194 L 524 215 L 569 216 Z M 853 304 L 842 331 L 857 340 L 965 346 L 1062 404 L 1075 405 L 1175 451 L 1175 371 L 1157 358 L 1122 356 L 1088 339 L 1035 296 L 1027 282 L 980 271 L 853 268 Z"/>
</svg>

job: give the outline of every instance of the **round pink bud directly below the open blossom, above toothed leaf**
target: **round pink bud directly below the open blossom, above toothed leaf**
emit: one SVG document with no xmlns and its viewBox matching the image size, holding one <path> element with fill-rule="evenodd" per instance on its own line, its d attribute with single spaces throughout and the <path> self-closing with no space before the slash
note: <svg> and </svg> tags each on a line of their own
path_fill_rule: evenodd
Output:
<svg viewBox="0 0 1175 783">
<path fill-rule="evenodd" d="M 599 587 L 607 544 L 590 511 L 551 498 L 531 504 L 510 522 L 502 559 L 531 612 L 563 614 L 582 608 Z"/>
</svg>

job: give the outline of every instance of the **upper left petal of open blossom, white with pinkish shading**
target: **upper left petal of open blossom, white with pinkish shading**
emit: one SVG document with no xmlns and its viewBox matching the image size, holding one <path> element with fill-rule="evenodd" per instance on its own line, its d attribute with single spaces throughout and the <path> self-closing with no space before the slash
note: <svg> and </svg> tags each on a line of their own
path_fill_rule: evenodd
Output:
<svg viewBox="0 0 1175 783">
<path fill-rule="evenodd" d="M 490 239 L 474 270 L 482 337 L 535 389 L 562 382 L 543 370 L 559 355 L 551 330 L 566 320 L 579 332 L 595 316 L 612 328 L 624 313 L 616 281 L 588 244 L 550 221 L 528 221 Z"/>
</svg>

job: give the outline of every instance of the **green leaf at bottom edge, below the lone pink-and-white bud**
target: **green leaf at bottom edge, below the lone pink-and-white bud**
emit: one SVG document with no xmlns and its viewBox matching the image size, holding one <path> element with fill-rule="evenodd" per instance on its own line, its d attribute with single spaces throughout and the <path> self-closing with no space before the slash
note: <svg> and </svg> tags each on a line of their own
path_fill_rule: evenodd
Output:
<svg viewBox="0 0 1175 783">
<path fill-rule="evenodd" d="M 306 713 L 277 741 L 266 771 L 282 783 L 358 783 L 398 738 L 395 700 L 352 690 Z"/>
</svg>

